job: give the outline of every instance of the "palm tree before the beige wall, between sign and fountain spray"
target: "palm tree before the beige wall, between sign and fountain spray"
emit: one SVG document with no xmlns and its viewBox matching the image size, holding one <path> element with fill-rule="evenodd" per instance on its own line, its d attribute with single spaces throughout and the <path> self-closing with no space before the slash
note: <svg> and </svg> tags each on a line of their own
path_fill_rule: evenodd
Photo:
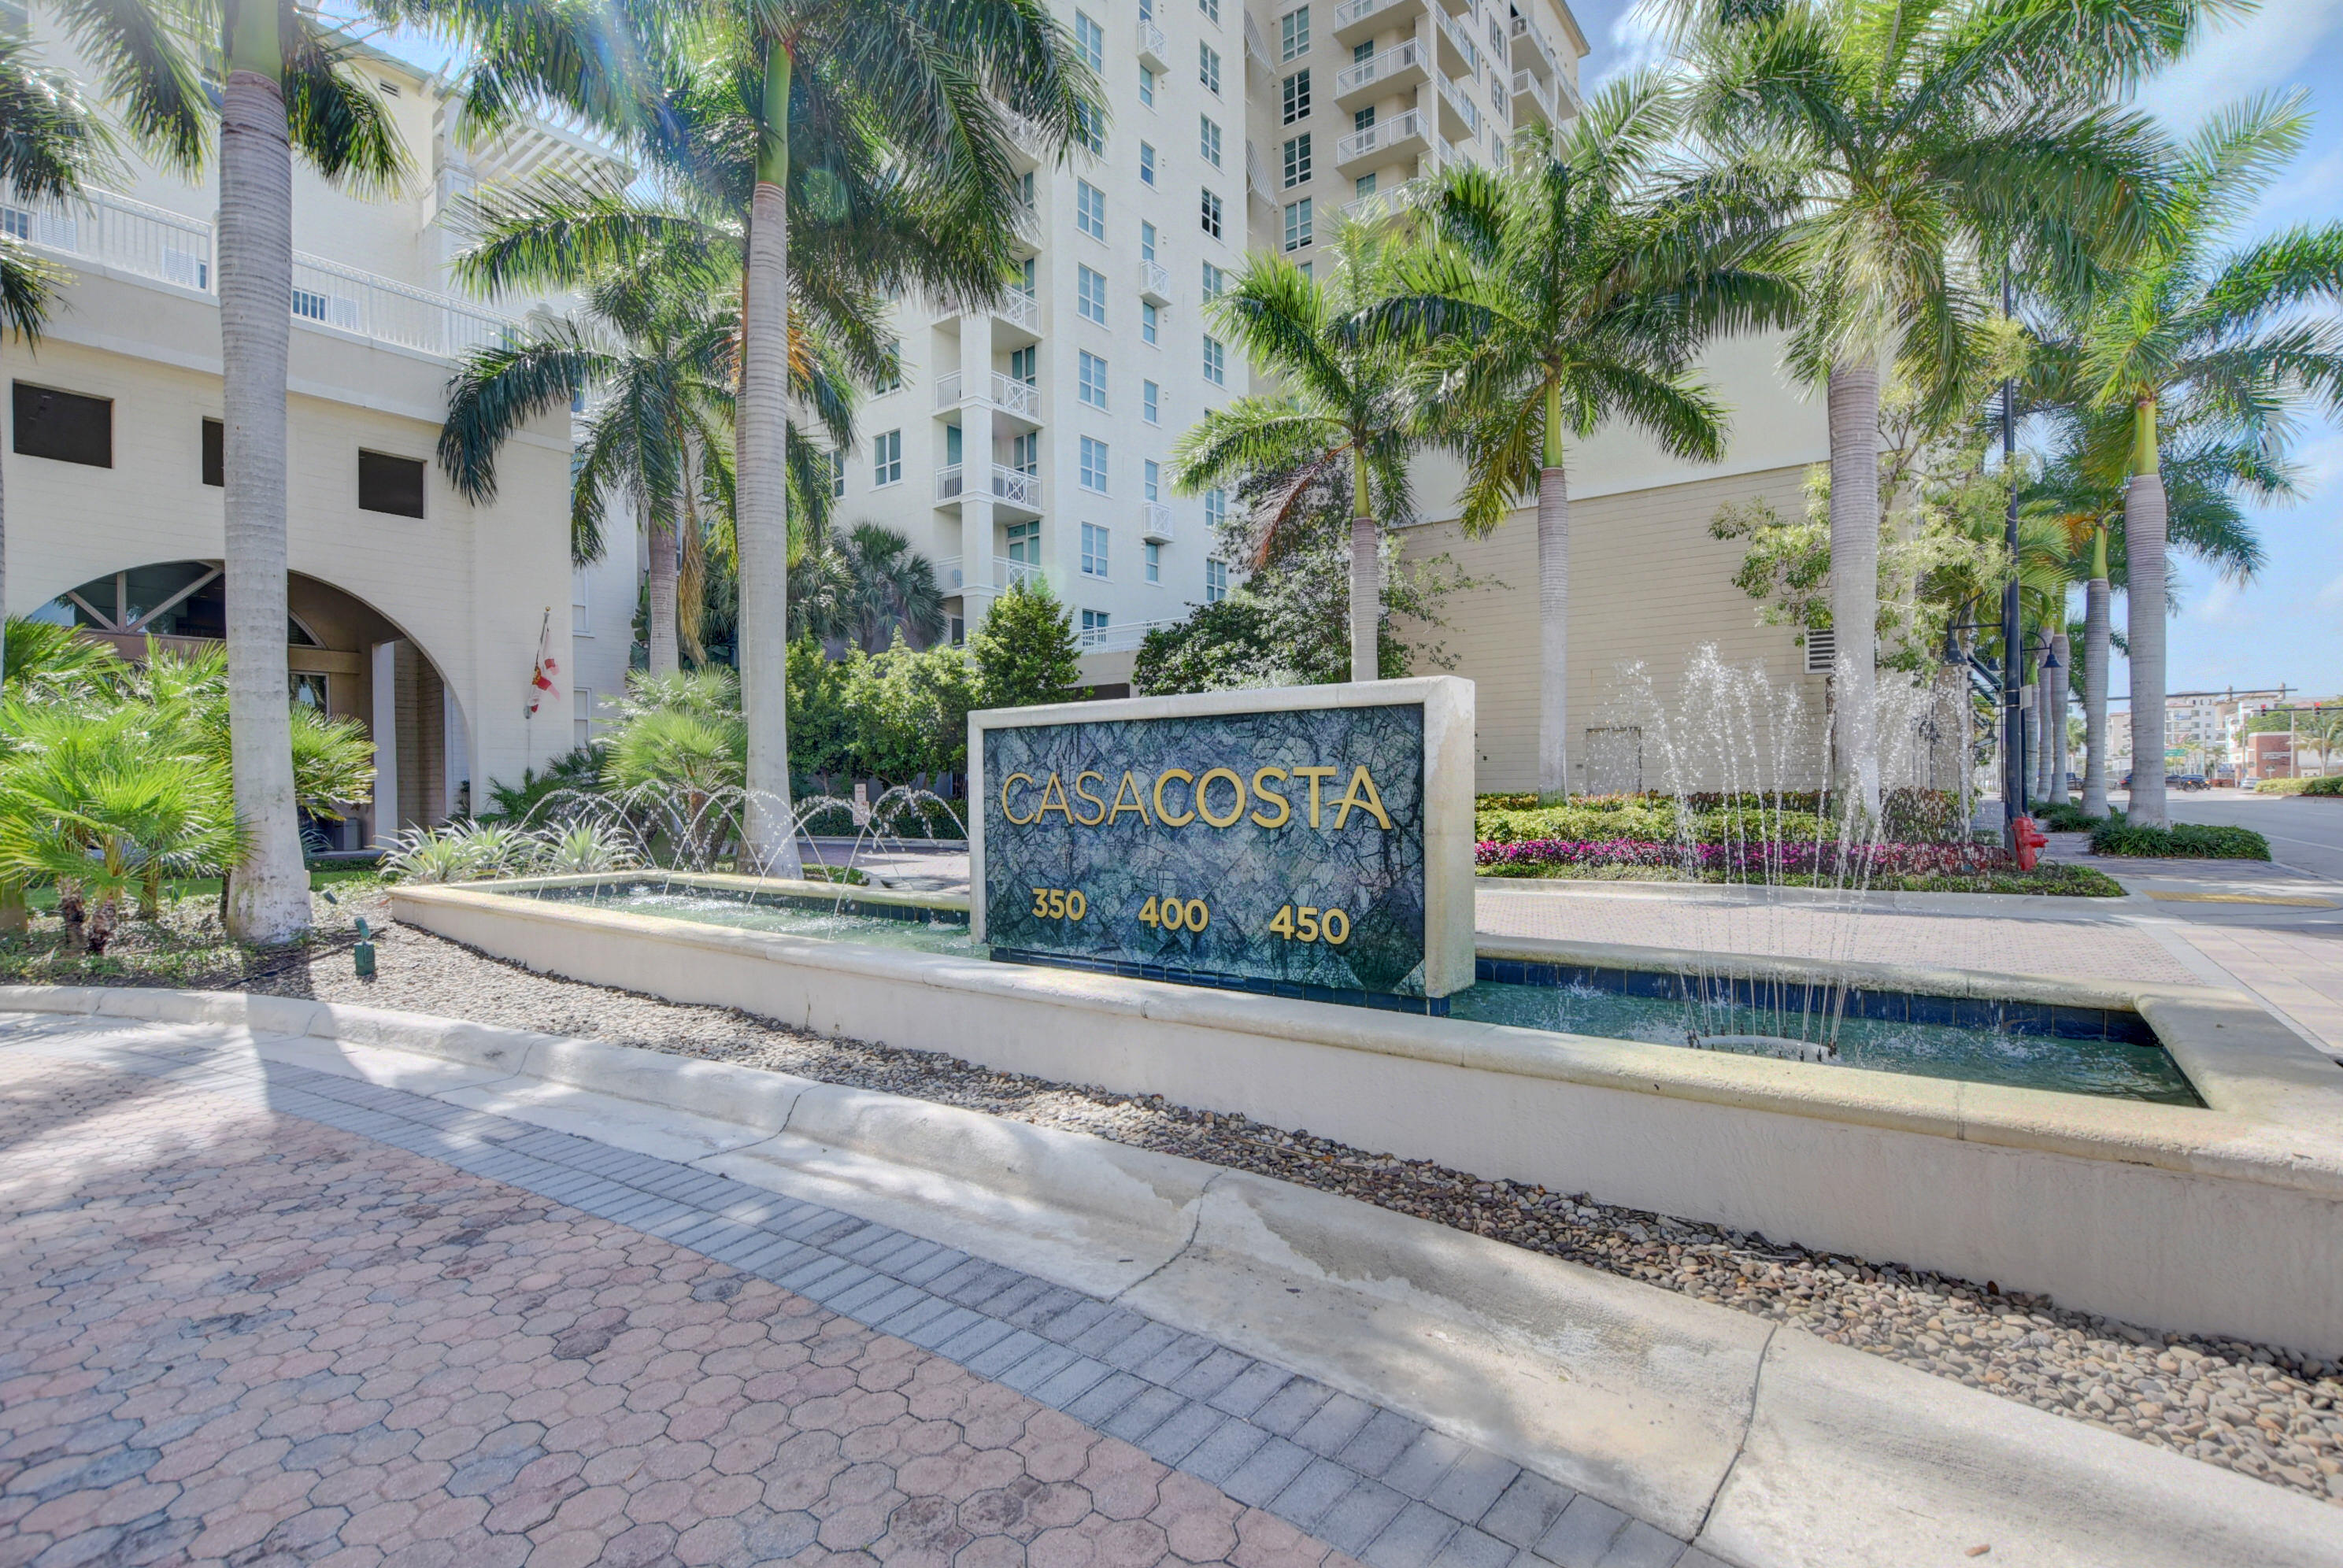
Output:
<svg viewBox="0 0 2343 1568">
<path fill-rule="evenodd" d="M 1673 131 L 1657 75 L 1614 82 L 1509 176 L 1460 169 L 1427 206 L 1432 241 L 1366 330 L 1455 345 L 1432 405 L 1464 466 L 1464 532 L 1537 497 L 1537 788 L 1570 790 L 1570 485 L 1565 436 L 1626 422 L 1715 462 L 1724 410 L 1687 375 L 1717 328 L 1788 316 L 1792 293 L 1722 258 L 1713 202 L 1647 202 Z"/>
</svg>

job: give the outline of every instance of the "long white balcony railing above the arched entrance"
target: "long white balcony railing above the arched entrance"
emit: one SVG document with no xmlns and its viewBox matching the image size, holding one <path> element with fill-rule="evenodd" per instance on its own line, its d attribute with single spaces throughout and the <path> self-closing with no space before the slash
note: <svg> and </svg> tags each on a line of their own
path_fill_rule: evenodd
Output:
<svg viewBox="0 0 2343 1568">
<path fill-rule="evenodd" d="M 61 206 L 0 206 L 0 232 L 37 251 L 124 277 L 211 295 L 211 225 L 145 202 L 91 190 Z M 433 288 L 417 288 L 342 263 L 293 253 L 293 321 L 366 338 L 433 359 L 457 359 L 504 342 L 511 316 Z"/>
</svg>

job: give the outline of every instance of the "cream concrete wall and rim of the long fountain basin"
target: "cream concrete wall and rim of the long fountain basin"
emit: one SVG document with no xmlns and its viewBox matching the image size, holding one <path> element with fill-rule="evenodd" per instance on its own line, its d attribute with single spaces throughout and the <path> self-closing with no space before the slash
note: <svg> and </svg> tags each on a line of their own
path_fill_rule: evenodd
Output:
<svg viewBox="0 0 2343 1568">
<path fill-rule="evenodd" d="M 2130 989 L 2198 1052 L 2184 1062 L 2191 1076 L 2209 1073 L 2200 1090 L 2216 1109 L 2195 1111 L 1352 1013 L 478 888 L 391 898 L 401 921 L 586 982 L 1244 1111 L 1485 1177 L 2048 1291 L 2125 1322 L 2343 1352 L 2343 1123 L 2313 1125 L 2343 1109 L 2343 1071 L 2238 996 Z M 2071 994 L 2085 991 L 2104 987 Z M 2336 1085 L 2291 1071 L 2296 1055 Z M 2289 1071 L 2273 1080 L 2266 1062 Z M 2268 1109 L 2254 1113 L 2256 1099 Z M 2306 1111 L 2303 1099 L 2320 1104 Z M 2294 1113 L 2280 1113 L 2287 1104 Z M 2247 1277 L 2256 1287 L 2238 1289 Z"/>
</svg>

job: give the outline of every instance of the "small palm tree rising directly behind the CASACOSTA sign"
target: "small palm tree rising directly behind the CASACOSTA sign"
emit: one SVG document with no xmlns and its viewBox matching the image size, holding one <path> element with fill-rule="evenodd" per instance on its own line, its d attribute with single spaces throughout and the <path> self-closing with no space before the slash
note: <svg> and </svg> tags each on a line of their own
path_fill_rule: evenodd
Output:
<svg viewBox="0 0 2343 1568">
<path fill-rule="evenodd" d="M 1410 506 L 1408 457 L 1425 445 L 1408 352 L 1368 335 L 1368 314 L 1389 295 L 1392 258 L 1366 225 L 1345 225 L 1326 279 L 1305 277 L 1282 255 L 1256 255 L 1211 305 L 1237 349 L 1268 370 L 1279 394 L 1256 394 L 1204 415 L 1172 448 L 1172 485 L 1202 495 L 1256 480 L 1265 563 L 1284 530 L 1305 520 L 1324 485 L 1350 497 L 1350 677 L 1375 680 L 1382 621 L 1385 518 Z"/>
</svg>

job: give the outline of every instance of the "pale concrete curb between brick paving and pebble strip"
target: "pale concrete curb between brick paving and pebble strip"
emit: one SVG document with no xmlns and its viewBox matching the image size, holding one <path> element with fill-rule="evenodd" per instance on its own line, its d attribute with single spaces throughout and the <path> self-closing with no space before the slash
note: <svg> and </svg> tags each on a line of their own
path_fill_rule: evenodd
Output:
<svg viewBox="0 0 2343 1568">
<path fill-rule="evenodd" d="M 0 1010 L 293 1036 L 253 1048 L 375 1080 L 415 1069 L 373 1052 L 422 1055 L 469 1069 L 438 1092 L 457 1104 L 572 1132 L 600 1118 L 630 1146 L 712 1137 L 703 1170 L 1113 1296 L 1739 1568 L 1966 1563 L 1973 1545 L 2045 1566 L 2343 1566 L 2336 1509 L 2298 1493 L 1675 1291 L 1089 1134 L 300 998 L 0 987 Z"/>
</svg>

